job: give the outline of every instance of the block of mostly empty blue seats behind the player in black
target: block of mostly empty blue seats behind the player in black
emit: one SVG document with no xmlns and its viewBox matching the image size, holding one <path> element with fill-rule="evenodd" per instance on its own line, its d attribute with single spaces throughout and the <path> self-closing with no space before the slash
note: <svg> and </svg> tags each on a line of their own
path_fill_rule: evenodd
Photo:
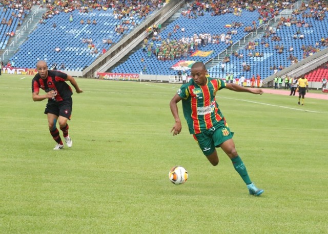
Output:
<svg viewBox="0 0 328 234">
<path fill-rule="evenodd" d="M 72 22 L 69 21 L 70 15 L 73 16 Z M 80 24 L 81 19 L 84 24 Z M 91 24 L 87 24 L 88 19 Z M 94 19 L 97 24 L 92 24 Z M 145 17 L 134 19 L 135 26 L 144 19 Z M 46 19 L 45 23 L 38 24 L 11 60 L 15 61 L 17 67 L 33 68 L 42 59 L 47 61 L 49 67 L 53 63 L 65 63 L 68 71 L 83 71 L 101 55 L 104 48 L 110 48 L 111 44 L 104 43 L 103 39 L 111 39 L 112 43 L 116 43 L 124 34 L 131 32 L 133 27 L 129 26 L 124 34 L 116 33 L 115 27 L 120 22 L 121 20 L 114 18 L 113 9 L 93 10 L 89 13 L 78 10 L 60 12 Z M 91 53 L 93 50 L 88 48 L 88 43 L 83 43 L 85 38 L 92 39 L 94 48 L 98 50 L 97 54 Z M 56 48 L 60 51 L 55 51 Z"/>
</svg>

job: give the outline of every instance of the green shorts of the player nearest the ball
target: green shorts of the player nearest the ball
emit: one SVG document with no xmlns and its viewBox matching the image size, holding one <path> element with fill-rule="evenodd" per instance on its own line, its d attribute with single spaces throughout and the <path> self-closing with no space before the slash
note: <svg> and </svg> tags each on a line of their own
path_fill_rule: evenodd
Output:
<svg viewBox="0 0 328 234">
<path fill-rule="evenodd" d="M 230 131 L 227 125 L 221 124 L 218 127 L 212 127 L 201 133 L 194 134 L 194 138 L 203 154 L 209 156 L 214 152 L 215 147 L 220 147 L 223 142 L 231 139 L 233 135 L 234 133 Z"/>
</svg>

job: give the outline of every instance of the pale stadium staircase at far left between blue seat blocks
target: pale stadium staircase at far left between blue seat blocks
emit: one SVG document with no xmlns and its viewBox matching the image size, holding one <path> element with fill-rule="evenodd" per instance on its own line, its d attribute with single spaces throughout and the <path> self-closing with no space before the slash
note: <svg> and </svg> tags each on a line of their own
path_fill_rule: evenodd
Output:
<svg viewBox="0 0 328 234">
<path fill-rule="evenodd" d="M 22 45 L 28 38 L 30 33 L 37 27 L 38 21 L 42 18 L 42 15 L 47 11 L 46 8 L 42 8 L 38 5 L 33 5 L 29 14 L 25 16 L 23 24 L 17 27 L 15 36 L 8 40 L 8 44 L 4 50 L 1 50 L 1 60 L 4 64 L 7 64 L 12 56 L 17 52 L 19 46 Z"/>
</svg>

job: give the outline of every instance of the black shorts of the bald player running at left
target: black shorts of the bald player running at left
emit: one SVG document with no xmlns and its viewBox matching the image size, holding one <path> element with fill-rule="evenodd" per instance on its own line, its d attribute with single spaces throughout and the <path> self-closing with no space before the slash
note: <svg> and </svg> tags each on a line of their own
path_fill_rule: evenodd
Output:
<svg viewBox="0 0 328 234">
<path fill-rule="evenodd" d="M 70 120 L 72 114 L 72 106 L 72 98 L 60 102 L 49 100 L 45 109 L 45 114 L 55 114 L 57 116 L 63 116 Z"/>
</svg>

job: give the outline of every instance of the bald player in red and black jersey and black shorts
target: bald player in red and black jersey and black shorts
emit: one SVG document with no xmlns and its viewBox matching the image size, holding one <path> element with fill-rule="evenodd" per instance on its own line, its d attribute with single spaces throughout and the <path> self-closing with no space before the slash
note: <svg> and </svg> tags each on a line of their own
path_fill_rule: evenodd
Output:
<svg viewBox="0 0 328 234">
<path fill-rule="evenodd" d="M 78 87 L 72 76 L 59 71 L 48 70 L 47 62 L 43 60 L 36 63 L 36 69 L 38 74 L 32 80 L 32 99 L 33 101 L 48 99 L 45 114 L 48 116 L 50 133 L 57 143 L 54 150 L 60 150 L 64 147 L 56 127 L 57 122 L 60 130 L 63 131 L 67 146 L 72 147 L 73 143 L 68 134 L 67 121 L 71 119 L 73 104 L 71 96 L 73 92 L 65 81 L 69 81 L 77 93 L 83 92 L 83 90 Z M 40 89 L 45 90 L 46 94 L 39 95 Z"/>
</svg>

